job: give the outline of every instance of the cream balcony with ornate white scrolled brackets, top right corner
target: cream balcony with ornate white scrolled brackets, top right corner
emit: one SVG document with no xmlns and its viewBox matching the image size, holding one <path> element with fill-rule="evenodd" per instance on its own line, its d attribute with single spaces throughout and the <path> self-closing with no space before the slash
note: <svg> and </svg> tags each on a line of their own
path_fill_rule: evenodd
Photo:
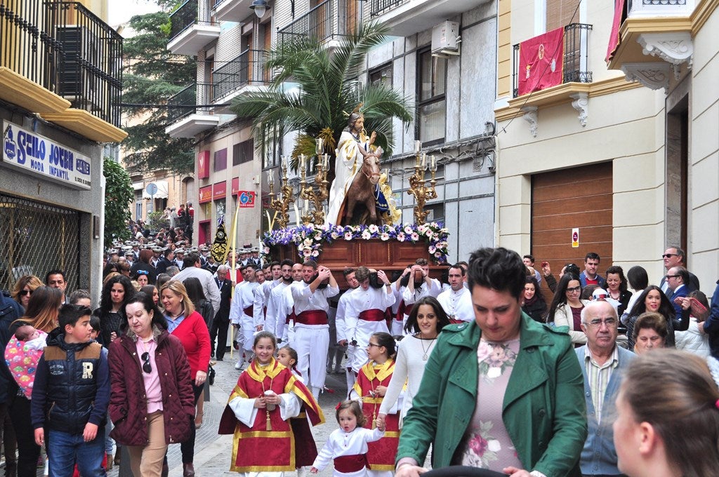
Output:
<svg viewBox="0 0 719 477">
<path fill-rule="evenodd" d="M 667 88 L 691 68 L 692 32 L 711 2 L 695 0 L 626 0 L 615 12 L 616 34 L 608 45 L 608 68 L 622 70 L 628 80 L 652 88 Z M 700 4 L 700 6 L 697 6 Z"/>
</svg>

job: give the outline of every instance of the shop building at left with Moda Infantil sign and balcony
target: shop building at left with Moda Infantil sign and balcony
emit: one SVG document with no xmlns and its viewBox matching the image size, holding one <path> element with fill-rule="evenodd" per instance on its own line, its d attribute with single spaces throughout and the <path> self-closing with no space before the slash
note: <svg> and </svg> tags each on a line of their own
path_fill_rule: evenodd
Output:
<svg viewBox="0 0 719 477">
<path fill-rule="evenodd" d="M 0 18 L 0 288 L 63 269 L 99 297 L 103 144 L 122 141 L 122 37 L 106 2 L 9 0 Z M 101 8 L 99 8 L 101 6 Z"/>
</svg>

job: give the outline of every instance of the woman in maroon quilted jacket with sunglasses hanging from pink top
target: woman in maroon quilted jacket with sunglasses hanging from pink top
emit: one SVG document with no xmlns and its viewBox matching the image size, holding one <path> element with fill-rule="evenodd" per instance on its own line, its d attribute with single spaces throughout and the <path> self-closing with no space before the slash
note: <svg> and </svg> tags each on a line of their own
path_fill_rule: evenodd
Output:
<svg viewBox="0 0 719 477">
<path fill-rule="evenodd" d="M 127 445 L 132 473 L 162 474 L 169 444 L 191 435 L 195 399 L 185 348 L 150 295 L 139 292 L 124 305 L 127 333 L 108 356 L 111 437 Z"/>
</svg>

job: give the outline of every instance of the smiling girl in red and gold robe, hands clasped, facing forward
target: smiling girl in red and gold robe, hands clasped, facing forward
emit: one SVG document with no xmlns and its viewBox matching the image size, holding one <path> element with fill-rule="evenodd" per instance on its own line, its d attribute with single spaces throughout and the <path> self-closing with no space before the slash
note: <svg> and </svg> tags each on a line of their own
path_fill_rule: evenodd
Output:
<svg viewBox="0 0 719 477">
<path fill-rule="evenodd" d="M 220 434 L 234 434 L 230 470 L 245 476 L 282 477 L 295 471 L 295 435 L 290 418 L 304 406 L 313 425 L 324 416 L 312 393 L 275 361 L 272 333 L 255 335 L 255 359 L 240 374 L 220 420 Z"/>
</svg>

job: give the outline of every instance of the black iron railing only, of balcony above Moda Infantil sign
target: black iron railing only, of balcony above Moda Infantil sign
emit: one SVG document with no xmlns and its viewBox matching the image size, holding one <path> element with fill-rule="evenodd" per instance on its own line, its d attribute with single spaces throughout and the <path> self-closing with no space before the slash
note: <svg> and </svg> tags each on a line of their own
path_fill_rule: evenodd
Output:
<svg viewBox="0 0 719 477">
<path fill-rule="evenodd" d="M 1 1 L 0 65 L 120 125 L 122 37 L 82 4 Z"/>
</svg>

